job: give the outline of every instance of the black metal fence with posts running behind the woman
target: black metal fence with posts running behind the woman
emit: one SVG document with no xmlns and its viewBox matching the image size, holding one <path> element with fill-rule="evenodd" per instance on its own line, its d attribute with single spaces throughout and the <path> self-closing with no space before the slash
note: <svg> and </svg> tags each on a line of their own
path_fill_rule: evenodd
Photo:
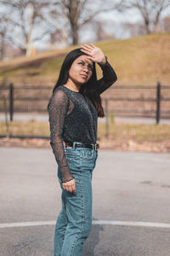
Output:
<svg viewBox="0 0 170 256">
<path fill-rule="evenodd" d="M 47 108 L 52 90 L 51 86 L 23 87 L 13 83 L 9 84 L 8 88 L 1 86 L 0 124 L 3 128 L 0 130 L 0 137 L 8 135 L 48 138 L 48 128 L 44 126 L 48 125 Z M 113 85 L 109 91 L 110 93 L 107 90 L 101 95 L 106 130 L 109 120 L 116 116 L 152 118 L 156 119 L 156 124 L 159 124 L 160 119 L 170 119 L 170 85 L 161 85 L 160 82 L 150 86 Z M 23 125 L 27 126 L 27 132 L 26 127 L 21 129 Z M 31 127 L 38 131 L 31 131 Z M 14 132 L 16 130 L 17 132 Z"/>
</svg>

